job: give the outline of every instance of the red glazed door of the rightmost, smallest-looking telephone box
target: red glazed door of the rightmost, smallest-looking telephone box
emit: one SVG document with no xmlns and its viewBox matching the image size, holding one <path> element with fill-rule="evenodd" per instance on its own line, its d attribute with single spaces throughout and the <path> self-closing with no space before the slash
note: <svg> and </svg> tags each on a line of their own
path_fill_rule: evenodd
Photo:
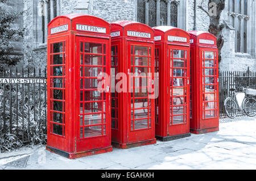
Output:
<svg viewBox="0 0 256 181">
<path fill-rule="evenodd" d="M 218 127 L 218 121 L 210 119 L 218 118 L 218 61 L 217 49 L 200 48 L 200 61 L 202 65 L 202 86 L 203 92 L 203 127 Z"/>
</svg>

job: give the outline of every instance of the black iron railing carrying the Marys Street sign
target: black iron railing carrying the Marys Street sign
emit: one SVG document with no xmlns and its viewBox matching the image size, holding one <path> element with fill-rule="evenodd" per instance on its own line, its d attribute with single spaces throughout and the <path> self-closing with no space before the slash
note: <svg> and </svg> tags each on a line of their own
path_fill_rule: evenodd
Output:
<svg viewBox="0 0 256 181">
<path fill-rule="evenodd" d="M 11 140 L 21 144 L 46 141 L 46 77 L 46 69 L 9 67 L 0 72 L 2 150 Z"/>
</svg>

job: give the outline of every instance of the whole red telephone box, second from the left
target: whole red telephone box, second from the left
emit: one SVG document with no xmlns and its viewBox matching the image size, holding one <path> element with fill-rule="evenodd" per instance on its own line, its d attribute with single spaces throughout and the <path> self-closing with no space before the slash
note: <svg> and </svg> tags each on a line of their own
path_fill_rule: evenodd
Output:
<svg viewBox="0 0 256 181">
<path fill-rule="evenodd" d="M 126 20 L 111 23 L 111 36 L 112 144 L 154 144 L 154 30 Z"/>
</svg>

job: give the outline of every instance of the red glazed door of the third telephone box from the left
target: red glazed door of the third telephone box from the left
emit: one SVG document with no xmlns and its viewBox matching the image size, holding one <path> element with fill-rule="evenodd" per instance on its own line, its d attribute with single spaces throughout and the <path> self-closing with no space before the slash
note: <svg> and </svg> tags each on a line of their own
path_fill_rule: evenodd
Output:
<svg viewBox="0 0 256 181">
<path fill-rule="evenodd" d="M 168 45 L 170 123 L 168 136 L 189 132 L 189 47 Z"/>
</svg>

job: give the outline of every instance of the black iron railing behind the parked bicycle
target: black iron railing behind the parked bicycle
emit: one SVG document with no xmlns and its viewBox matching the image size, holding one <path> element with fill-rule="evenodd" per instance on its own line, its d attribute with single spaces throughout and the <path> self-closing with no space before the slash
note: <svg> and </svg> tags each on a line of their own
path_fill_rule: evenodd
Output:
<svg viewBox="0 0 256 181">
<path fill-rule="evenodd" d="M 234 96 L 231 88 L 249 87 L 256 89 L 256 72 L 250 71 L 219 71 L 219 91 L 220 96 L 220 117 L 225 117 L 224 100 L 229 96 Z M 240 112 L 242 115 L 243 112 Z"/>
</svg>

